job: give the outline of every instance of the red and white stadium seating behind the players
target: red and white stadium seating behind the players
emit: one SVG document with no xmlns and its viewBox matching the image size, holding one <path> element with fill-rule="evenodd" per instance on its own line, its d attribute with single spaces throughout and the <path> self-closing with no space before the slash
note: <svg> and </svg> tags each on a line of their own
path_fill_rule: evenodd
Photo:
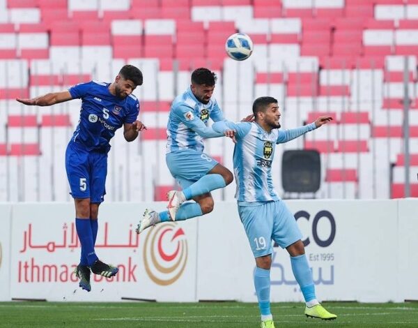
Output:
<svg viewBox="0 0 418 328">
<path fill-rule="evenodd" d="M 10 173 L 7 179 L 21 181 L 1 189 L 0 201 L 69 197 L 60 160 L 79 103 L 40 109 L 14 98 L 91 79 L 110 81 L 128 62 L 144 72 L 144 86 L 135 94 L 148 131 L 133 144 L 118 134 L 112 141 L 112 200 L 162 200 L 175 186 L 165 167 L 164 127 L 171 100 L 199 66 L 219 73 L 215 96 L 232 120 L 245 117 L 254 98 L 265 95 L 279 99 L 284 128 L 332 114 L 327 128 L 284 145 L 320 151 L 318 197 L 403 197 L 405 57 L 409 142 L 418 153 L 417 18 L 417 3 L 410 0 L 0 1 L 0 115 L 7 123 L 0 126 L 0 160 L 10 156 L 15 162 L 1 161 L 1 167 Z M 226 38 L 236 31 L 254 40 L 254 54 L 242 63 L 224 52 Z M 210 154 L 231 166 L 229 140 L 219 142 L 208 141 Z M 415 156 L 411 168 L 418 166 Z M 53 174 L 37 170 L 39 165 Z M 38 179 L 22 184 L 24 172 Z M 126 179 L 132 174 L 141 187 Z M 125 181 L 123 187 L 116 181 Z M 416 174 L 411 182 L 411 195 L 418 196 Z M 281 186 L 277 172 L 274 183 Z"/>
</svg>

